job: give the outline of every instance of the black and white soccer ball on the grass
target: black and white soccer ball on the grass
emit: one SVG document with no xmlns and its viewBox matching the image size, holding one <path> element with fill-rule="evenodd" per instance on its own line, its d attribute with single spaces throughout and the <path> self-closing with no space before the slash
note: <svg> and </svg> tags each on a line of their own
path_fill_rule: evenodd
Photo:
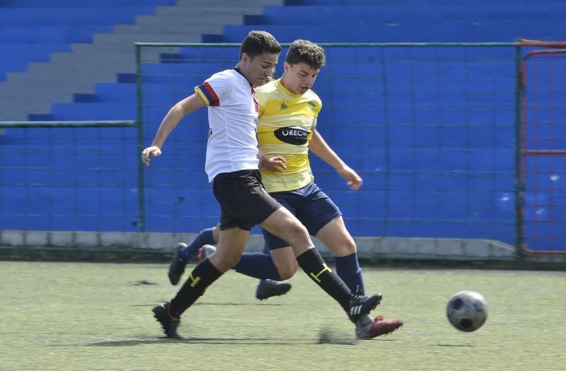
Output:
<svg viewBox="0 0 566 371">
<path fill-rule="evenodd" d="M 475 291 L 460 291 L 448 301 L 446 316 L 456 329 L 472 332 L 487 319 L 487 304 L 483 296 Z"/>
</svg>

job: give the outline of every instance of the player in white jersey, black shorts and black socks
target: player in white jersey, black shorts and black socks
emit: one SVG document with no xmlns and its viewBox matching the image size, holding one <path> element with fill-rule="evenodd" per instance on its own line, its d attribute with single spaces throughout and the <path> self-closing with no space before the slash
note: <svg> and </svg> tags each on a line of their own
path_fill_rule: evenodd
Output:
<svg viewBox="0 0 566 371">
<path fill-rule="evenodd" d="M 352 293 L 320 257 L 304 225 L 265 192 L 258 169 L 259 107 L 253 87 L 271 75 L 280 52 L 275 37 L 264 31 L 250 32 L 242 42 L 236 67 L 214 73 L 195 87 L 194 94 L 174 105 L 151 146 L 141 153 L 141 160 L 149 165 L 149 158 L 161 155 L 163 143 L 186 114 L 208 107 L 210 135 L 204 167 L 221 209 L 219 243 L 216 254 L 192 270 L 175 298 L 154 307 L 154 317 L 168 337 L 178 337 L 180 315 L 238 262 L 255 224 L 291 246 L 299 266 L 340 304 L 352 322 L 366 317 L 381 301 L 381 294 Z"/>
</svg>

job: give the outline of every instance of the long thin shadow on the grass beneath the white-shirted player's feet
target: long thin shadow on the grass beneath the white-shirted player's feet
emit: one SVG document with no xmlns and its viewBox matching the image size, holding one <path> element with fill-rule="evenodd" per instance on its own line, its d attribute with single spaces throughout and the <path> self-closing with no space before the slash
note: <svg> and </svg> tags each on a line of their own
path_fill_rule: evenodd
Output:
<svg viewBox="0 0 566 371">
<path fill-rule="evenodd" d="M 263 345 L 289 345 L 296 346 L 298 344 L 313 344 L 316 341 L 280 341 L 275 338 L 144 338 L 144 339 L 131 339 L 131 340 L 113 340 L 113 341 L 99 341 L 97 343 L 87 343 L 83 346 L 139 346 L 147 344 L 165 344 L 165 343 L 187 343 L 187 344 L 238 344 L 257 346 Z"/>
</svg>

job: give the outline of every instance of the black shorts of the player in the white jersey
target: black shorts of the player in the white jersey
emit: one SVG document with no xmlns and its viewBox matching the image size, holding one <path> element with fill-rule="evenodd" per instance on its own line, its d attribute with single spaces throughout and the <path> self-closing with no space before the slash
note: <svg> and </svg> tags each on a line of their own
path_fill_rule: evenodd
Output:
<svg viewBox="0 0 566 371">
<path fill-rule="evenodd" d="M 251 230 L 281 207 L 265 192 L 260 170 L 223 172 L 214 177 L 212 189 L 220 204 L 221 230 Z"/>
</svg>

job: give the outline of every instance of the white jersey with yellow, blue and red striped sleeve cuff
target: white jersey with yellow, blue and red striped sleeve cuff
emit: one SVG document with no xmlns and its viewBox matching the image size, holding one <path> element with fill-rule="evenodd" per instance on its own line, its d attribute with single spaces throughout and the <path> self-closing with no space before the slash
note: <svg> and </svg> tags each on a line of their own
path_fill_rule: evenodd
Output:
<svg viewBox="0 0 566 371">
<path fill-rule="evenodd" d="M 209 182 L 221 172 L 258 169 L 258 101 L 248 80 L 227 69 L 214 73 L 195 92 L 208 107 L 204 170 Z"/>
</svg>

